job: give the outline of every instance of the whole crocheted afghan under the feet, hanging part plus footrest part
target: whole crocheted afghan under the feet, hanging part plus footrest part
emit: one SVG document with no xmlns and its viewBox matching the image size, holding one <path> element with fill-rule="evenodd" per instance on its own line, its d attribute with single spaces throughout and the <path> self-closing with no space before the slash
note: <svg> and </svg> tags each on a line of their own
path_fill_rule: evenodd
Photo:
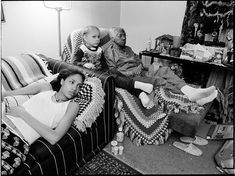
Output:
<svg viewBox="0 0 235 176">
<path fill-rule="evenodd" d="M 124 134 L 137 146 L 164 144 L 172 131 L 168 118 L 172 111 L 199 113 L 203 109 L 184 95 L 173 94 L 163 88 L 155 89 L 155 106 L 145 109 L 140 100 L 128 91 L 121 88 L 115 90 L 117 123 L 123 126 Z"/>
</svg>

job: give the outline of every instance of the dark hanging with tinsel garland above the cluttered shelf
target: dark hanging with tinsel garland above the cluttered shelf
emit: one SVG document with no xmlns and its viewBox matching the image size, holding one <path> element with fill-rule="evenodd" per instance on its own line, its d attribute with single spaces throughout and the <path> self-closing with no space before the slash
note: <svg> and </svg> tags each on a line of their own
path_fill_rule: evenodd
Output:
<svg viewBox="0 0 235 176">
<path fill-rule="evenodd" d="M 228 29 L 233 28 L 233 0 L 187 1 L 182 26 L 182 45 L 214 42 L 223 45 Z"/>
</svg>

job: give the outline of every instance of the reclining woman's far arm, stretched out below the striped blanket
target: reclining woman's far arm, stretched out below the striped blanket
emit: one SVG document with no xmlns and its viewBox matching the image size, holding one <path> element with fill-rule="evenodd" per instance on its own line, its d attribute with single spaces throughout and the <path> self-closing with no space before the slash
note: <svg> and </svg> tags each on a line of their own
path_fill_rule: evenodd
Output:
<svg viewBox="0 0 235 176">
<path fill-rule="evenodd" d="M 42 91 L 51 90 L 51 84 L 49 82 L 46 83 L 33 83 L 28 86 L 12 90 L 12 91 L 5 91 L 2 92 L 2 100 L 6 96 L 13 96 L 13 95 L 34 95 Z"/>
</svg>

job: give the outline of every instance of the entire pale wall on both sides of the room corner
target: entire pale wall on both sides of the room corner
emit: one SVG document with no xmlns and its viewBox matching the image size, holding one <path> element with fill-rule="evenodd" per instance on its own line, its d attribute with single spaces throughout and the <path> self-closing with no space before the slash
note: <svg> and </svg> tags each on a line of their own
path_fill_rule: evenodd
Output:
<svg viewBox="0 0 235 176">
<path fill-rule="evenodd" d="M 2 56 L 24 51 L 58 57 L 58 23 L 55 10 L 43 1 L 2 1 Z M 72 10 L 61 12 L 62 46 L 68 34 L 86 25 L 122 26 L 127 44 L 138 53 L 146 41 L 162 34 L 179 35 L 186 1 L 72 1 Z"/>
</svg>

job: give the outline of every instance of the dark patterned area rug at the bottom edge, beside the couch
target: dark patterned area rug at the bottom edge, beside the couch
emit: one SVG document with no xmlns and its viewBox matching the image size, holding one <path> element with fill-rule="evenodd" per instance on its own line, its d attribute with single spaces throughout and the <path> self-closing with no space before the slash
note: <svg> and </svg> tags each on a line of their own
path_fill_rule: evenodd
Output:
<svg viewBox="0 0 235 176">
<path fill-rule="evenodd" d="M 140 175 L 141 173 L 106 151 L 99 152 L 74 175 Z"/>
</svg>

